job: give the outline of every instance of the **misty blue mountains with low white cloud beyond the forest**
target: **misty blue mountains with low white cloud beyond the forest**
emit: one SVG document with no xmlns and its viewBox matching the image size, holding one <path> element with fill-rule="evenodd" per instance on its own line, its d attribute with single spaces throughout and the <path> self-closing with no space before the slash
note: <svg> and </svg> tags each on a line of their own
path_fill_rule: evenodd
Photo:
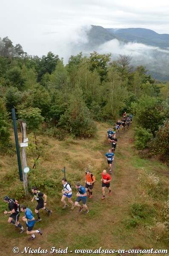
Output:
<svg viewBox="0 0 169 256">
<path fill-rule="evenodd" d="M 106 29 L 94 25 L 86 34 L 88 42 L 78 46 L 83 54 L 111 52 L 114 60 L 119 54 L 132 54 L 133 66 L 144 65 L 154 79 L 169 81 L 169 34 L 143 28 Z"/>
</svg>

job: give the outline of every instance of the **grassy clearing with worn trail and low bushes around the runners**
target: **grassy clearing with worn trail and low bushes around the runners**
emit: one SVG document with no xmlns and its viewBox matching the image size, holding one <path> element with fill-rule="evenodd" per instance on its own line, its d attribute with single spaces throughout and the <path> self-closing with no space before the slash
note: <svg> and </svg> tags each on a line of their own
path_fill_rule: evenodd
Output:
<svg viewBox="0 0 169 256">
<path fill-rule="evenodd" d="M 115 162 L 112 165 L 113 175 L 111 181 L 112 195 L 105 192 L 105 200 L 101 200 L 101 172 L 107 169 L 107 161 L 104 157 L 109 146 L 107 145 L 106 131 L 109 125 L 98 124 L 97 138 L 86 140 L 59 141 L 52 138 L 40 137 L 39 143 L 43 144 L 43 156 L 38 163 L 37 170 L 31 170 L 29 183 L 33 185 L 35 180 L 40 184 L 40 189 L 48 196 L 47 207 L 52 209 L 52 215 L 40 210 L 42 221 L 35 224 L 34 228 L 42 228 L 43 236 L 38 236 L 35 241 L 28 241 L 26 233 L 18 234 L 14 226 L 7 223 L 7 216 L 3 211 L 7 205 L 1 201 L 0 219 L 1 244 L 3 255 L 12 254 L 12 248 L 18 246 L 20 253 L 24 247 L 48 249 L 46 255 L 51 255 L 50 248 L 56 247 L 69 250 L 76 249 L 169 249 L 168 230 L 165 230 L 163 204 L 168 199 L 168 167 L 157 160 L 143 159 L 139 157 L 133 147 L 133 131 L 120 132 L 115 151 Z M 44 143 L 46 141 L 47 143 Z M 7 160 L 8 159 L 8 160 Z M 28 157 L 28 165 L 32 157 Z M 0 165 L 0 184 L 2 198 L 5 195 L 16 196 L 15 187 L 22 189 L 22 183 L 18 180 L 17 160 L 9 162 L 9 158 L 3 157 Z M 9 162 L 9 163 L 8 163 Z M 93 198 L 87 199 L 89 213 L 77 212 L 69 208 L 63 210 L 61 203 L 61 179 L 64 176 L 61 169 L 66 166 L 66 178 L 72 184 L 72 200 L 76 200 L 74 184 L 80 181 L 84 185 L 86 169 L 91 169 L 96 177 L 93 190 Z M 6 173 L 6 169 L 8 172 Z M 144 171 L 154 173 L 159 177 L 158 185 L 149 182 Z M 141 173 L 142 181 L 138 180 Z M 39 178 L 41 176 L 41 178 Z M 17 177 L 17 178 L 16 178 Z M 35 177 L 35 180 L 32 180 Z M 144 178 L 144 179 L 143 179 Z M 21 185 L 20 185 L 21 184 Z M 31 203 L 30 198 L 18 196 L 20 204 L 26 204 L 32 212 L 36 202 Z M 20 214 L 21 216 L 23 213 Z M 36 214 L 34 214 L 36 218 Z M 21 220 L 21 219 L 20 219 Z M 22 222 L 22 221 L 21 221 Z M 25 223 L 23 223 L 25 225 Z M 157 239 L 159 237 L 159 239 Z M 10 243 L 9 243 L 10 241 Z M 75 255 L 75 253 L 68 253 Z M 38 254 L 37 254 L 38 255 Z M 39 254 L 40 255 L 40 254 Z M 102 255 L 107 255 L 102 253 Z M 115 253 L 117 255 L 117 253 Z"/>
</svg>

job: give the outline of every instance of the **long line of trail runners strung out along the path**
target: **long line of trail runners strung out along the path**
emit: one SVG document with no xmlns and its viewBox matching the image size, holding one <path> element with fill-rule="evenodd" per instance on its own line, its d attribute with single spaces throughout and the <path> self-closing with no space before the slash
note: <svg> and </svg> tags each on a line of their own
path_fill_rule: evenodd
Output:
<svg viewBox="0 0 169 256">
<path fill-rule="evenodd" d="M 107 159 L 107 163 L 109 166 L 109 173 L 106 172 L 106 169 L 103 170 L 101 174 L 101 181 L 102 181 L 102 193 L 103 196 L 101 199 L 105 199 L 105 188 L 108 189 L 109 195 L 112 194 L 111 188 L 110 188 L 110 181 L 111 181 L 111 174 L 112 174 L 112 162 L 115 159 L 115 148 L 117 144 L 117 138 L 116 138 L 116 131 L 119 133 L 120 127 L 122 127 L 122 131 L 126 129 L 129 129 L 129 126 L 132 125 L 132 114 L 129 116 L 126 115 L 126 112 L 123 113 L 123 119 L 118 120 L 116 125 L 113 126 L 112 128 L 109 128 L 109 131 L 107 131 L 107 137 L 108 137 L 108 143 L 112 143 L 112 149 L 109 149 L 109 151 L 106 153 L 105 157 Z M 109 175 L 110 174 L 110 175 Z M 85 186 L 81 185 L 79 182 L 75 183 L 75 188 L 77 189 L 76 193 L 76 201 L 72 201 L 72 188 L 71 184 L 67 182 L 66 178 L 62 179 L 62 198 L 61 202 L 64 204 L 62 209 L 66 209 L 69 207 L 69 205 L 66 203 L 66 199 L 68 200 L 68 203 L 71 205 L 70 209 L 74 209 L 75 207 L 79 207 L 78 212 L 81 212 L 83 208 L 85 209 L 85 214 L 89 212 L 89 209 L 86 205 L 86 200 L 87 200 L 87 195 L 91 199 L 93 197 L 93 187 L 96 179 L 95 176 L 90 172 L 90 170 L 87 170 L 85 173 Z M 23 233 L 26 231 L 27 234 L 31 234 L 31 237 L 29 240 L 34 240 L 36 239 L 35 234 L 39 233 L 40 235 L 43 234 L 42 230 L 40 228 L 37 228 L 36 230 L 33 230 L 34 224 L 41 221 L 42 219 L 40 218 L 40 213 L 39 210 L 43 209 L 46 212 L 48 212 L 48 216 L 51 215 L 52 210 L 46 208 L 47 204 L 47 196 L 41 192 L 40 190 L 37 189 L 36 186 L 32 187 L 32 193 L 33 193 L 33 198 L 32 198 L 32 203 L 34 199 L 37 201 L 37 206 L 35 208 L 35 213 L 37 215 L 37 219 L 35 220 L 34 215 L 25 204 L 23 204 L 21 207 L 18 204 L 18 201 L 15 200 L 14 198 L 9 198 L 8 196 L 5 196 L 3 198 L 3 201 L 8 203 L 8 208 L 9 211 L 5 210 L 3 213 L 5 215 L 9 214 L 8 218 L 8 223 L 11 223 L 15 226 L 15 229 L 20 228 L 19 233 Z M 44 200 L 43 200 L 44 198 Z M 80 205 L 80 201 L 82 201 L 82 205 Z M 26 228 L 27 230 L 22 226 L 22 224 L 19 221 L 20 217 L 20 211 L 24 212 L 24 216 L 22 218 L 23 221 L 26 222 Z"/>
</svg>

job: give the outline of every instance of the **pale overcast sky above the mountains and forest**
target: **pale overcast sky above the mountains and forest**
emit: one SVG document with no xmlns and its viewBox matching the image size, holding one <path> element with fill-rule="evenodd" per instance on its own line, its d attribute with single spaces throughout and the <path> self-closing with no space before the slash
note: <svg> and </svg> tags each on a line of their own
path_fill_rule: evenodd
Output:
<svg viewBox="0 0 169 256">
<path fill-rule="evenodd" d="M 51 51 L 67 61 L 76 54 L 74 45 L 87 41 L 86 29 L 91 24 L 103 28 L 146 28 L 169 34 L 169 3 L 166 0 L 1 0 L 0 38 L 8 36 L 14 46 L 21 44 L 29 55 L 42 56 Z M 114 43 L 118 47 L 118 42 Z M 138 47 L 143 46 L 138 44 Z"/>
</svg>

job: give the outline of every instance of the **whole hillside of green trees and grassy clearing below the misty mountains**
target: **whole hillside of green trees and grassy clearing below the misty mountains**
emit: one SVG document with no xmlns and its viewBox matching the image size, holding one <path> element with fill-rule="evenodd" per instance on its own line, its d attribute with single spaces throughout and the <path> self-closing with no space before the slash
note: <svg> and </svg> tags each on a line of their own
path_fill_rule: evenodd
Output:
<svg viewBox="0 0 169 256">
<path fill-rule="evenodd" d="M 42 224 L 36 225 L 44 233 L 33 246 L 75 250 L 87 244 L 97 249 L 107 236 L 107 249 L 168 249 L 169 82 L 157 83 L 143 65 L 134 68 L 131 55 L 111 61 L 111 54 L 92 52 L 86 57 L 80 52 L 64 65 L 52 52 L 30 56 L 9 38 L 3 38 L 0 46 L 0 191 L 33 212 L 32 194 L 25 196 L 18 174 L 14 108 L 17 120 L 26 122 L 29 137 L 27 190 L 31 193 L 32 186 L 42 189 L 53 210 L 50 217 L 43 211 Z M 107 166 L 106 134 L 123 112 L 132 113 L 133 125 L 129 131 L 120 131 L 112 195 L 106 194 L 104 201 L 100 175 Z M 21 142 L 19 122 L 17 128 Z M 96 176 L 87 218 L 78 215 L 76 208 L 72 213 L 62 210 L 64 166 L 73 186 L 77 181 L 84 183 L 86 169 Z M 76 190 L 72 190 L 75 200 Z M 4 202 L 0 209 L 6 210 Z M 14 246 L 30 247 L 26 233 L 19 235 L 3 217 L 4 255 Z"/>
</svg>

